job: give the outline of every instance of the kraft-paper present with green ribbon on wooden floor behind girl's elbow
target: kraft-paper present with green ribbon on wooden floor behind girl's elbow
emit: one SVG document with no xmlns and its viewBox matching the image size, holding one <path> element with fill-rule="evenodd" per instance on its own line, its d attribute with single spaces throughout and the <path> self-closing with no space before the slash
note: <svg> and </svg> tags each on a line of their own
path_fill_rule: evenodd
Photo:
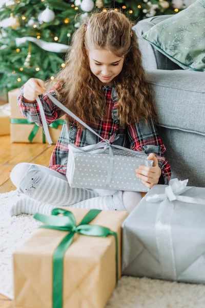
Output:
<svg viewBox="0 0 205 308">
<path fill-rule="evenodd" d="M 11 106 L 11 142 L 46 143 L 46 136 L 43 127 L 39 127 L 37 124 L 25 119 L 18 110 L 18 92 L 19 89 L 14 89 L 8 92 L 9 103 Z M 52 136 L 53 143 L 58 141 L 64 120 L 65 116 L 49 125 L 49 132 Z"/>
</svg>

